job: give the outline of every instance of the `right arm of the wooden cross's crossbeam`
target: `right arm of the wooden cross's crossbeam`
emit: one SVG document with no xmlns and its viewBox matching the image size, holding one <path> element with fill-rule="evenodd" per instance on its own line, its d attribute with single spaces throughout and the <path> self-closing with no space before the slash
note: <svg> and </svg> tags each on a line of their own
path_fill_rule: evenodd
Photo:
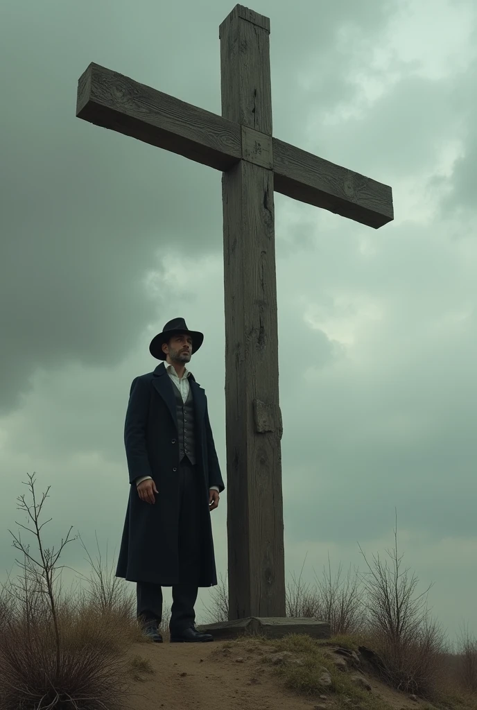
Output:
<svg viewBox="0 0 477 710">
<path fill-rule="evenodd" d="M 375 229 L 393 219 L 388 185 L 273 138 L 275 190 Z"/>
</svg>

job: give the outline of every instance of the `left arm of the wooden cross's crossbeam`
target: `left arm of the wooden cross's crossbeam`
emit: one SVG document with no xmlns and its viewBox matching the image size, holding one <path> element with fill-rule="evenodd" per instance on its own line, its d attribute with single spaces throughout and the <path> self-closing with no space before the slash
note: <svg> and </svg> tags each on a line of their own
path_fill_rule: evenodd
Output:
<svg viewBox="0 0 477 710">
<path fill-rule="evenodd" d="M 76 115 L 217 170 L 241 158 L 240 126 L 97 64 L 79 79 Z"/>
</svg>

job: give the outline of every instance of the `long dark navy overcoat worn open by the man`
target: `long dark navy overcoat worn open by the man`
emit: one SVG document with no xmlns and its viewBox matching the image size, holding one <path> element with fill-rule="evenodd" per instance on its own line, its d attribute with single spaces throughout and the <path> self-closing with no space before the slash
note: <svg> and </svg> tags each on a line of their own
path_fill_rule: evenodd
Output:
<svg viewBox="0 0 477 710">
<path fill-rule="evenodd" d="M 207 397 L 189 376 L 194 396 L 197 469 L 201 480 L 202 540 L 199 586 L 217 584 L 214 542 L 209 510 L 209 487 L 224 490 L 209 422 Z M 124 443 L 129 470 L 128 508 L 116 577 L 177 584 L 179 523 L 179 437 L 176 400 L 163 363 L 133 380 L 129 394 Z M 158 493 L 155 503 L 141 501 L 138 476 L 152 476 Z"/>
</svg>

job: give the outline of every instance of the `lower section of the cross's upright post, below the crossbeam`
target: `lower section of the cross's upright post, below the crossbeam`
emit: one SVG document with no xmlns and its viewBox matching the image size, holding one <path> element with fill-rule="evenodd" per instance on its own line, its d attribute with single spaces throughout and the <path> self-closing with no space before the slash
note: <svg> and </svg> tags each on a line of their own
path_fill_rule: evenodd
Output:
<svg viewBox="0 0 477 710">
<path fill-rule="evenodd" d="M 285 616 L 273 172 L 243 160 L 222 178 L 230 618 Z M 269 422 L 270 424 L 270 422 Z"/>
</svg>

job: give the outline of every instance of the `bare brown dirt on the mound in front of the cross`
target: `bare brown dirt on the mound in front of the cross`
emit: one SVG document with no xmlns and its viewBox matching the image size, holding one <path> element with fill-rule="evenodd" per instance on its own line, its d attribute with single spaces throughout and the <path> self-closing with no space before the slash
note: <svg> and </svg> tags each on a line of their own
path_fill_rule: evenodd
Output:
<svg viewBox="0 0 477 710">
<path fill-rule="evenodd" d="M 332 694 L 326 698 L 298 697 L 283 688 L 268 665 L 260 662 L 270 649 L 248 649 L 246 643 L 226 648 L 224 643 L 136 644 L 131 656 L 150 662 L 152 673 L 141 673 L 133 683 L 128 704 L 134 710 L 309 710 L 336 709 Z M 368 677 L 375 697 L 395 710 L 419 708 Z"/>
</svg>

